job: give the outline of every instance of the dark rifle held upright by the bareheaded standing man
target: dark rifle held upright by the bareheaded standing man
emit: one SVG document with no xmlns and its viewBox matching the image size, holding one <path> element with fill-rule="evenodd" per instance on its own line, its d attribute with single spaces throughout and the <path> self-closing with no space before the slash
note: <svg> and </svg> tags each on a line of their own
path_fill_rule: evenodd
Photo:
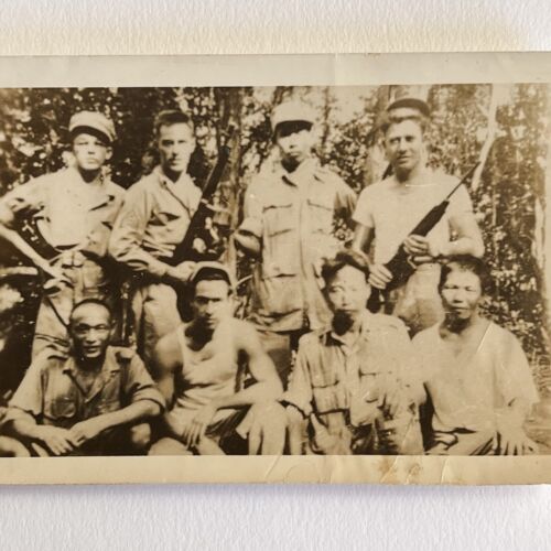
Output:
<svg viewBox="0 0 551 551">
<path fill-rule="evenodd" d="M 203 188 L 203 194 L 201 195 L 201 201 L 197 209 L 195 210 L 192 219 L 190 222 L 190 226 L 187 227 L 187 231 L 183 240 L 176 245 L 174 249 L 174 253 L 170 259 L 165 261 L 171 266 L 177 266 L 184 260 L 198 260 L 199 253 L 194 253 L 193 250 L 193 241 L 198 235 L 205 229 L 205 222 L 213 214 L 213 207 L 210 206 L 210 201 L 213 198 L 216 188 L 222 180 L 224 174 L 224 170 L 226 169 L 226 164 L 229 160 L 230 148 L 228 145 L 233 134 L 234 134 L 234 126 L 230 125 L 226 132 L 224 132 L 220 137 L 220 148 L 218 149 L 218 158 L 216 160 L 216 164 L 214 165 L 210 174 L 208 175 L 208 180 Z"/>
</svg>

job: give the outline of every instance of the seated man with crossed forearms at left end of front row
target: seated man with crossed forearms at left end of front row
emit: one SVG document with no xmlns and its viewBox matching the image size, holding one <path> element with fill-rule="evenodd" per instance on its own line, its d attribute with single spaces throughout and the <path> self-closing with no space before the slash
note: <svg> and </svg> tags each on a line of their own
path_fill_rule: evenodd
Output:
<svg viewBox="0 0 551 551">
<path fill-rule="evenodd" d="M 10 400 L 4 426 L 37 455 L 147 452 L 150 418 L 164 409 L 140 357 L 109 346 L 111 312 L 97 299 L 71 314 L 71 354 L 45 348 Z"/>
</svg>

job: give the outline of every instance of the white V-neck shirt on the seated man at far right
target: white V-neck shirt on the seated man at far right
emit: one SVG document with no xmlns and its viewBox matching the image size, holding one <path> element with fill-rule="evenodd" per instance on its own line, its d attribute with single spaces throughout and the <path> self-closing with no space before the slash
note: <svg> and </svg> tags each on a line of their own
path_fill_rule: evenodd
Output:
<svg viewBox="0 0 551 551">
<path fill-rule="evenodd" d="M 434 406 L 435 431 L 491 431 L 496 412 L 512 400 L 539 400 L 518 339 L 495 323 L 457 356 L 440 336 L 439 325 L 415 335 L 413 347 Z"/>
</svg>

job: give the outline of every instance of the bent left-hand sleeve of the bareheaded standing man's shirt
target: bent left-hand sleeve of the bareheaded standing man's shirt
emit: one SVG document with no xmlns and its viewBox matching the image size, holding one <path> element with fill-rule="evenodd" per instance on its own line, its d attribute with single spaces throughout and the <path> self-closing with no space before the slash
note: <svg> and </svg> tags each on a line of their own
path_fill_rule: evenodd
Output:
<svg viewBox="0 0 551 551">
<path fill-rule="evenodd" d="M 169 270 L 169 264 L 142 247 L 150 216 L 145 191 L 139 185 L 131 187 L 125 196 L 111 231 L 109 255 L 134 272 L 162 278 Z"/>
</svg>

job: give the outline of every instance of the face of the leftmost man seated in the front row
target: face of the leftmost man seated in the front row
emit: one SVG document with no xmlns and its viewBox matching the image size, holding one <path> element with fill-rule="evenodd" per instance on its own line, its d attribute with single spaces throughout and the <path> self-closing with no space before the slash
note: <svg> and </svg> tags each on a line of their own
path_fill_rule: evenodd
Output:
<svg viewBox="0 0 551 551">
<path fill-rule="evenodd" d="M 77 358 L 84 361 L 101 359 L 111 337 L 111 315 L 101 304 L 77 306 L 71 315 L 69 333 Z"/>
</svg>

